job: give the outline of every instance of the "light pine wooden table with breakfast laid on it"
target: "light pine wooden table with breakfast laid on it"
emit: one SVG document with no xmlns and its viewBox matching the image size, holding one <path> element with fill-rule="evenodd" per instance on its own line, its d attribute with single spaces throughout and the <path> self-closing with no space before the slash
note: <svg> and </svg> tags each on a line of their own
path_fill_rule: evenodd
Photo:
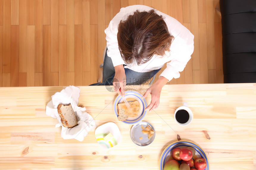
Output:
<svg viewBox="0 0 256 170">
<path fill-rule="evenodd" d="M 121 131 L 121 143 L 108 150 L 99 146 L 94 130 L 83 142 L 62 139 L 54 127 L 57 119 L 47 116 L 45 108 L 63 88 L 0 88 L 0 169 L 159 169 L 161 153 L 177 141 L 177 134 L 205 150 L 211 170 L 256 169 L 256 83 L 164 86 L 160 106 L 144 119 L 156 130 L 146 147 L 135 145 L 132 125 L 113 114 L 116 93 L 104 86 L 80 86 L 79 104 L 96 125 L 114 122 Z M 144 94 L 148 86 L 129 88 Z M 150 95 L 146 100 L 150 103 Z M 174 121 L 184 101 L 194 116 L 185 127 Z"/>
</svg>

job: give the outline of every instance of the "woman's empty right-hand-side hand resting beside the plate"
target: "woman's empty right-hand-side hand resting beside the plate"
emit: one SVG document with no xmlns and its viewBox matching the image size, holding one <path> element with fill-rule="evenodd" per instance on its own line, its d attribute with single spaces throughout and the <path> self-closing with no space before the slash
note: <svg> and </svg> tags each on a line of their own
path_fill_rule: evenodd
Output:
<svg viewBox="0 0 256 170">
<path fill-rule="evenodd" d="M 160 77 L 157 82 L 155 82 L 152 86 L 150 86 L 146 93 L 142 96 L 142 98 L 146 98 L 148 94 L 151 94 L 151 102 L 148 105 L 148 107 L 145 108 L 149 109 L 149 112 L 151 112 L 153 109 L 156 109 L 159 106 L 160 103 L 160 94 L 162 91 L 163 86 L 168 82 L 168 79 L 165 77 Z"/>
</svg>

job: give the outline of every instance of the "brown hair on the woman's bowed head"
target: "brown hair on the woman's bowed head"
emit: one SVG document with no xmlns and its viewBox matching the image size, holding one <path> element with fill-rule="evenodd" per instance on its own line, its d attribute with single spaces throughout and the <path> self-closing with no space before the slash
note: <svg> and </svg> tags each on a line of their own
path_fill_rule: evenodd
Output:
<svg viewBox="0 0 256 170">
<path fill-rule="evenodd" d="M 172 39 L 162 15 L 155 10 L 138 10 L 118 25 L 118 47 L 126 64 L 138 65 L 149 61 L 154 54 L 164 55 L 170 51 Z"/>
</svg>

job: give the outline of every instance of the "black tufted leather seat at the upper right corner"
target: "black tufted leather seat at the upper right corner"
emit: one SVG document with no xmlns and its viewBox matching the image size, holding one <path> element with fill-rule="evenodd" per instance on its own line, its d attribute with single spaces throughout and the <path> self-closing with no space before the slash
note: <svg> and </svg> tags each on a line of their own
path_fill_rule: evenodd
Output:
<svg viewBox="0 0 256 170">
<path fill-rule="evenodd" d="M 220 0 L 224 83 L 256 82 L 256 0 Z"/>
</svg>

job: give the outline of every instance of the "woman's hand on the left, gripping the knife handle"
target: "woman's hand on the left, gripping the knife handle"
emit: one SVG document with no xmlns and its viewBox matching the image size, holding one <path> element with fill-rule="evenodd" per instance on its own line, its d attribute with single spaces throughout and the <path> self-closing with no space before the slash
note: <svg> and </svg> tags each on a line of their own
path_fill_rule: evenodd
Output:
<svg viewBox="0 0 256 170">
<path fill-rule="evenodd" d="M 115 66 L 115 77 L 113 79 L 114 90 L 124 96 L 124 86 L 126 85 L 126 76 L 124 72 L 124 66 Z M 120 89 L 120 91 L 119 91 Z"/>
</svg>

